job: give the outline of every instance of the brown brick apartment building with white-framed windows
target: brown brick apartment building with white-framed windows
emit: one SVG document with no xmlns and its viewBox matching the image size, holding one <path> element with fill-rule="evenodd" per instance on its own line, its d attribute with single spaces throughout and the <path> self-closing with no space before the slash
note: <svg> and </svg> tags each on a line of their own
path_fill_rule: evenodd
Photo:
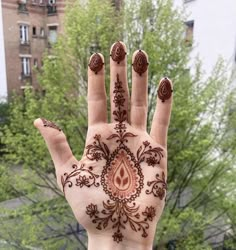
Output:
<svg viewBox="0 0 236 250">
<path fill-rule="evenodd" d="M 64 10 L 65 0 L 2 0 L 8 95 L 27 82 L 37 88 L 35 69 L 63 31 Z"/>
</svg>

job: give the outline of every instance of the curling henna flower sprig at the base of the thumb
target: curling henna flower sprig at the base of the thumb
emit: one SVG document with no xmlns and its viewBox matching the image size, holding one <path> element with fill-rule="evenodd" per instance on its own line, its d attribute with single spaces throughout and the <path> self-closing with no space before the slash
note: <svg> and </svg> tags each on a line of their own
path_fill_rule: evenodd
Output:
<svg viewBox="0 0 236 250">
<path fill-rule="evenodd" d="M 72 177 L 78 176 L 78 178 L 75 179 L 76 186 L 79 187 L 99 187 L 100 183 L 96 182 L 96 179 L 99 177 L 99 175 L 94 174 L 93 167 L 85 168 L 85 165 L 82 164 L 80 167 L 76 164 L 72 166 L 74 169 L 71 173 L 64 173 L 64 175 L 61 176 L 61 184 L 63 188 L 63 192 L 65 193 L 65 187 L 68 186 L 71 188 L 73 186 L 73 182 L 71 180 Z M 81 176 L 81 173 L 85 173 L 85 175 Z"/>
</svg>

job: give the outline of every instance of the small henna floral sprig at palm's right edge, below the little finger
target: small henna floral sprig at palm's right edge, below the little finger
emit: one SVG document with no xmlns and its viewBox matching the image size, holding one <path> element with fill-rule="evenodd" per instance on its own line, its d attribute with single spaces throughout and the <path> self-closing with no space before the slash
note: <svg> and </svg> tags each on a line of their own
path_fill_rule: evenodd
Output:
<svg viewBox="0 0 236 250">
<path fill-rule="evenodd" d="M 155 197 L 163 200 L 167 190 L 167 184 L 165 182 L 165 174 L 162 172 L 162 177 L 156 174 L 156 180 L 148 181 L 147 185 L 151 187 L 150 190 L 146 190 L 146 194 L 153 194 Z"/>
</svg>

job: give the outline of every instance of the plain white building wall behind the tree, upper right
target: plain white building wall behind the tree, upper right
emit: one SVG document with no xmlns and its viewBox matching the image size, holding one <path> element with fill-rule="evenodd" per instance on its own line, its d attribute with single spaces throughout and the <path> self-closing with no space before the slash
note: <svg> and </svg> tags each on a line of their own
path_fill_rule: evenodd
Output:
<svg viewBox="0 0 236 250">
<path fill-rule="evenodd" d="M 192 40 L 190 68 L 198 56 L 206 75 L 219 57 L 231 69 L 236 65 L 236 1 L 174 0 L 187 13 L 186 37 Z"/>
</svg>

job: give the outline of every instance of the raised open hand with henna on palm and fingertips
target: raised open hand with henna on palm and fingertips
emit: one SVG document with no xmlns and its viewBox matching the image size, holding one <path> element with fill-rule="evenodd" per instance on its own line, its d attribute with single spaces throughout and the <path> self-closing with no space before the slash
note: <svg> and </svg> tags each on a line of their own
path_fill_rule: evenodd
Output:
<svg viewBox="0 0 236 250">
<path fill-rule="evenodd" d="M 89 249 L 151 249 L 167 189 L 166 140 L 172 83 L 167 78 L 160 82 L 148 135 L 148 57 L 139 50 L 132 58 L 129 115 L 126 47 L 122 42 L 113 44 L 108 123 L 103 62 L 101 54 L 90 58 L 89 126 L 80 161 L 72 155 L 64 133 L 54 123 L 37 119 L 35 126 L 52 156 L 58 185 L 88 232 Z"/>
</svg>

